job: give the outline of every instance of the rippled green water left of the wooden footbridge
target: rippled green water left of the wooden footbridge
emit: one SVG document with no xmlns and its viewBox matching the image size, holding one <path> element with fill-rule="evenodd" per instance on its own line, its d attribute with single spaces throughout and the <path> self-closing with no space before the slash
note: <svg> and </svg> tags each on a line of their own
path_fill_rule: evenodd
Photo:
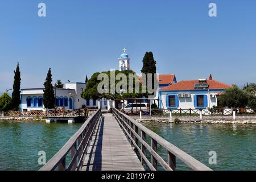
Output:
<svg viewBox="0 0 256 182">
<path fill-rule="evenodd" d="M 81 125 L 0 121 L 0 170 L 38 170 L 38 152 L 49 160 Z"/>
</svg>

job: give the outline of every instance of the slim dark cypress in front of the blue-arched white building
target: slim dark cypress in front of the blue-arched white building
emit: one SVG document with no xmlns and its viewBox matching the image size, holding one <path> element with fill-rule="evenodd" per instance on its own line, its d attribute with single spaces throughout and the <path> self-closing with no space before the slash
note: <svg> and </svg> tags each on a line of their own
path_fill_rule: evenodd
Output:
<svg viewBox="0 0 256 182">
<path fill-rule="evenodd" d="M 52 86 L 51 68 L 47 73 L 46 82 L 44 82 L 44 107 L 52 109 L 55 106 L 55 96 Z"/>
</svg>

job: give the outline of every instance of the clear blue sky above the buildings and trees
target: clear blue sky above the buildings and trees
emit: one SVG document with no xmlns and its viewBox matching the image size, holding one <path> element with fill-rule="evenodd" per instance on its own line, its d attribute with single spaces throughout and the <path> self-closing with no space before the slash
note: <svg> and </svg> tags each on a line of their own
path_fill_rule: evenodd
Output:
<svg viewBox="0 0 256 182">
<path fill-rule="evenodd" d="M 47 6 L 39 18 L 38 3 Z M 208 16 L 210 2 L 217 17 Z M 131 69 L 140 73 L 146 51 L 157 72 L 177 81 L 208 77 L 227 84 L 256 82 L 256 1 L 1 0 L 0 92 L 11 88 L 17 61 L 22 88 L 53 81 L 84 81 L 118 69 L 131 44 Z M 129 52 L 129 51 L 128 51 Z"/>
</svg>

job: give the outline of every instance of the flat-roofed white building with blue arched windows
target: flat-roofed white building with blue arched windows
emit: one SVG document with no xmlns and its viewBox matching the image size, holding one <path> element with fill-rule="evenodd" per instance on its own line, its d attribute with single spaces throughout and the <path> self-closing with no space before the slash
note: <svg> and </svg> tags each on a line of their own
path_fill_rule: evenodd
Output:
<svg viewBox="0 0 256 182">
<path fill-rule="evenodd" d="M 43 89 L 29 88 L 21 89 L 21 111 L 45 110 L 43 105 Z M 84 100 L 81 97 L 82 91 L 85 89 L 85 83 L 82 82 L 66 82 L 63 89 L 54 88 L 56 107 L 65 107 L 65 109 L 81 109 L 82 106 L 88 108 L 105 109 L 108 106 L 106 100 Z"/>
</svg>

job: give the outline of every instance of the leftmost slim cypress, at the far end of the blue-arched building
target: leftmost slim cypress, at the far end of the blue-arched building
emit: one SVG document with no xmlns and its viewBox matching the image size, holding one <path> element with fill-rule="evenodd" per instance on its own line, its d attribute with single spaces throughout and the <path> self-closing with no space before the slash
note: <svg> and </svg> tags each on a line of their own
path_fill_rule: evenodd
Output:
<svg viewBox="0 0 256 182">
<path fill-rule="evenodd" d="M 13 82 L 13 93 L 11 94 L 12 97 L 12 107 L 15 110 L 19 109 L 20 105 L 20 71 L 19 71 L 19 62 L 16 67 L 16 71 L 14 71 L 14 82 Z"/>
</svg>

